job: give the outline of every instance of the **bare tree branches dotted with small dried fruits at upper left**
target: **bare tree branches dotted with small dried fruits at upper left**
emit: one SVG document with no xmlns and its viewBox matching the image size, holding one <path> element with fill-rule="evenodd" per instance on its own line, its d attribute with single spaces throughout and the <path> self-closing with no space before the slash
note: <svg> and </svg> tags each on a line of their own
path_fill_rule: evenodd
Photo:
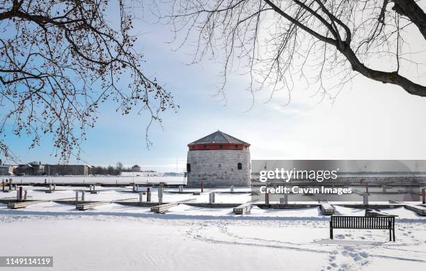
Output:
<svg viewBox="0 0 426 271">
<path fill-rule="evenodd" d="M 0 151 L 11 157 L 6 133 L 47 133 L 61 160 L 79 156 L 86 129 L 107 99 L 127 114 L 138 107 L 151 122 L 176 109 L 173 97 L 143 72 L 134 49 L 134 1 L 0 0 Z M 107 19 L 116 5 L 118 18 Z M 122 78 L 127 81 L 120 80 Z M 150 122 L 150 124 L 151 124 Z M 148 139 L 147 127 L 147 145 Z"/>
</svg>

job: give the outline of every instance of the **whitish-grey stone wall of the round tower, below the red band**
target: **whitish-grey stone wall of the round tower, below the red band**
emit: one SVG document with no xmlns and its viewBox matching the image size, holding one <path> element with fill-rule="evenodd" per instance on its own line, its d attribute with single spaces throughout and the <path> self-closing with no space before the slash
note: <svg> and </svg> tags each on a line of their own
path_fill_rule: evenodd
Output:
<svg viewBox="0 0 426 271">
<path fill-rule="evenodd" d="M 191 166 L 188 172 L 188 186 L 250 186 L 250 151 L 240 150 L 208 150 L 188 151 L 187 163 Z M 242 169 L 238 170 L 238 163 Z"/>
</svg>

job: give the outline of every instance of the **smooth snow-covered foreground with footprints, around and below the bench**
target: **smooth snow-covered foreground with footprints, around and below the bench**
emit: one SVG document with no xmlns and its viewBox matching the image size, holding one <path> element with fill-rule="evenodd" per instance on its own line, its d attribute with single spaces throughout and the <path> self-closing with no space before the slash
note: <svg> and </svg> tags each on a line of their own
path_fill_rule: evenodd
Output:
<svg viewBox="0 0 426 271">
<path fill-rule="evenodd" d="M 54 268 L 45 270 L 426 268 L 425 220 L 397 222 L 395 243 L 388 242 L 388 232 L 382 230 L 335 230 L 335 239 L 330 240 L 327 220 L 308 217 L 246 220 L 22 213 L 0 215 L 0 232 L 1 254 L 53 256 Z"/>
</svg>

